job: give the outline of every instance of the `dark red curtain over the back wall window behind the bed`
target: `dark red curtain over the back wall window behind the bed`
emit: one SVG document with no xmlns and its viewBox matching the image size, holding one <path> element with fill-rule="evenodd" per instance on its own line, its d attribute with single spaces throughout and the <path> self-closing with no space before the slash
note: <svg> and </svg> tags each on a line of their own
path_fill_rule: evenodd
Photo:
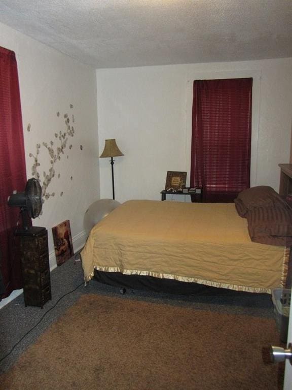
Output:
<svg viewBox="0 0 292 390">
<path fill-rule="evenodd" d="M 194 81 L 191 187 L 232 202 L 250 186 L 252 78 Z"/>
</svg>

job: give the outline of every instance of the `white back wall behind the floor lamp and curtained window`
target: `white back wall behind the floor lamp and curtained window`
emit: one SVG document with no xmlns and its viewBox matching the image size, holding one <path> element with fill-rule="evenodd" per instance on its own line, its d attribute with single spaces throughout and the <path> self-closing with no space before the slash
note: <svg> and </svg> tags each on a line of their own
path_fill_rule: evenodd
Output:
<svg viewBox="0 0 292 390">
<path fill-rule="evenodd" d="M 192 88 L 196 79 L 253 77 L 251 185 L 279 187 L 289 162 L 292 58 L 97 70 L 99 152 L 116 138 L 116 199 L 160 199 L 167 171 L 190 178 Z M 108 159 L 101 198 L 111 198 Z M 181 199 L 181 198 L 179 198 Z"/>
</svg>

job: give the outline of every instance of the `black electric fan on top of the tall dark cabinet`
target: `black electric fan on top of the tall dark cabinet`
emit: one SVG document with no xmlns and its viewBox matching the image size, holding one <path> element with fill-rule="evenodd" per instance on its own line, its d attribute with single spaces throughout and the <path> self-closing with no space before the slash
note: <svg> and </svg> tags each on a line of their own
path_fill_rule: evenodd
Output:
<svg viewBox="0 0 292 390">
<path fill-rule="evenodd" d="M 24 192 L 17 192 L 8 198 L 8 206 L 20 207 L 22 228 L 28 230 L 28 217 L 36 218 L 40 215 L 43 206 L 42 187 L 38 180 L 28 179 Z"/>
</svg>

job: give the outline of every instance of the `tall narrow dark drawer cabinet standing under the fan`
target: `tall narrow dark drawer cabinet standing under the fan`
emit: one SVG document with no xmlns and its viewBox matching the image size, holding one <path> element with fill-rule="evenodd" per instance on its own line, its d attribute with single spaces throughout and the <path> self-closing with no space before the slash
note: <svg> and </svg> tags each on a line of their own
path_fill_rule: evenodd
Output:
<svg viewBox="0 0 292 390">
<path fill-rule="evenodd" d="M 25 306 L 40 306 L 52 299 L 48 232 L 45 228 L 32 226 L 20 236 L 20 256 L 23 275 Z"/>
</svg>

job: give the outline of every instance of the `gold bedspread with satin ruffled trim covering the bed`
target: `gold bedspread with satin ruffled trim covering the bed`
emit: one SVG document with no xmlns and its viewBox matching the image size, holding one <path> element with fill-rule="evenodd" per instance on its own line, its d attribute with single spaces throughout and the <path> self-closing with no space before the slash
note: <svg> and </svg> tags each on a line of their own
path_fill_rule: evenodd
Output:
<svg viewBox="0 0 292 390">
<path fill-rule="evenodd" d="M 92 229 L 81 252 L 94 269 L 270 293 L 285 284 L 289 248 L 250 241 L 233 203 L 128 201 Z"/>
</svg>

